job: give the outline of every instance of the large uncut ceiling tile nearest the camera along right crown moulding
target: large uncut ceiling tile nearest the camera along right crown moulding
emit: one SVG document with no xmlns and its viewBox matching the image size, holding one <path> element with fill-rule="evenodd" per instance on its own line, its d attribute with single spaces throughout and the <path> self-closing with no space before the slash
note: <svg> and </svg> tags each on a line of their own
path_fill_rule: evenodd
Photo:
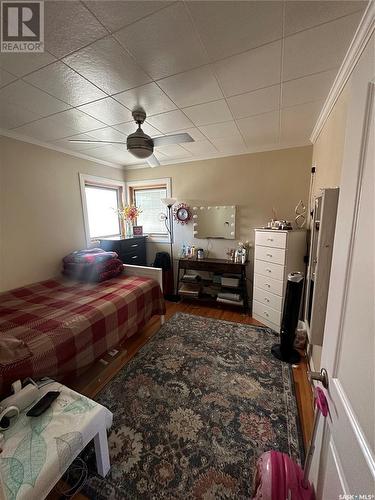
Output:
<svg viewBox="0 0 375 500">
<path fill-rule="evenodd" d="M 360 18 L 352 14 L 287 37 L 283 81 L 340 66 Z"/>
</svg>

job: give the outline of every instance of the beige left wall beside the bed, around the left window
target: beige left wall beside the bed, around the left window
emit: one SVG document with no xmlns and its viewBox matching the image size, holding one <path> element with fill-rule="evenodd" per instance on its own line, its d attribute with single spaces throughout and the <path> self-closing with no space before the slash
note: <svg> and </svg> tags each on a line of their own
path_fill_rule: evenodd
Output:
<svg viewBox="0 0 375 500">
<path fill-rule="evenodd" d="M 60 274 L 86 246 L 79 173 L 123 180 L 124 171 L 0 137 L 0 290 Z"/>
</svg>

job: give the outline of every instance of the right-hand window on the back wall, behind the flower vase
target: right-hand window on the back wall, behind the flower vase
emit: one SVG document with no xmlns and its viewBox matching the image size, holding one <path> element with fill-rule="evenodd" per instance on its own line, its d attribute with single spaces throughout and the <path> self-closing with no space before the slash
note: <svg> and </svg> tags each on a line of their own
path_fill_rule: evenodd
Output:
<svg viewBox="0 0 375 500">
<path fill-rule="evenodd" d="M 170 197 L 170 179 L 153 179 L 128 183 L 128 199 L 142 210 L 137 224 L 154 241 L 166 241 L 168 232 L 160 214 L 166 213 L 162 198 Z"/>
</svg>

